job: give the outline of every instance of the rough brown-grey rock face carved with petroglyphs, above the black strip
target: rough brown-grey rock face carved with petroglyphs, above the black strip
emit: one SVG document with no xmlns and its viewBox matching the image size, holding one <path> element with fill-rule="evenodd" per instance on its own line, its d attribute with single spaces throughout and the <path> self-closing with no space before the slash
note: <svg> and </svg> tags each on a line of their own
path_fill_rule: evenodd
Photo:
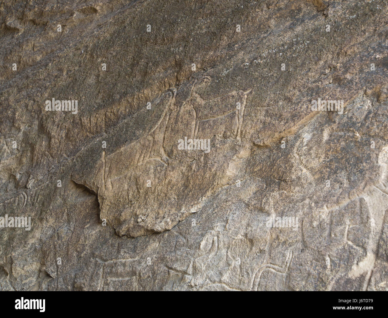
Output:
<svg viewBox="0 0 388 318">
<path fill-rule="evenodd" d="M 0 216 L 31 217 L 1 290 L 388 289 L 386 0 L 10 0 L 0 26 Z"/>
</svg>

